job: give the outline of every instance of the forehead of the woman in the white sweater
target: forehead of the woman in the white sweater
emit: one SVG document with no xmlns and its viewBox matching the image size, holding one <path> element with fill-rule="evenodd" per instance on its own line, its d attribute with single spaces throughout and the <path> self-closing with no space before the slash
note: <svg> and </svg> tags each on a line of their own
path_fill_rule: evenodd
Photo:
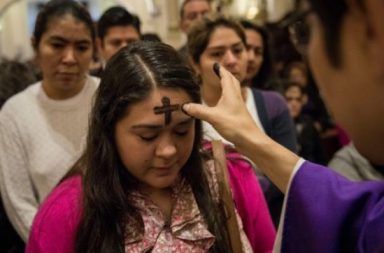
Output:
<svg viewBox="0 0 384 253">
<path fill-rule="evenodd" d="M 44 36 L 57 36 L 67 40 L 92 40 L 91 31 L 87 25 L 70 14 L 55 17 L 47 24 Z"/>
</svg>

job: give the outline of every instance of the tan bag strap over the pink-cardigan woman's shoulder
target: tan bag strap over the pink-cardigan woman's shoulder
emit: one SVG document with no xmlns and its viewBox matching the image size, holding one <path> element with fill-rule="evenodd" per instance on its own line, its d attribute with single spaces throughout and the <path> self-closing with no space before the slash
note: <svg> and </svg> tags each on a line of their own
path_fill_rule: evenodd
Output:
<svg viewBox="0 0 384 253">
<path fill-rule="evenodd" d="M 212 141 L 212 152 L 215 162 L 215 170 L 219 185 L 219 197 L 224 205 L 224 211 L 227 216 L 227 233 L 229 236 L 232 252 L 240 253 L 243 251 L 240 237 L 239 224 L 235 212 L 235 206 L 232 199 L 232 193 L 229 186 L 229 175 L 227 168 L 227 159 L 225 156 L 224 145 L 219 140 Z"/>
</svg>

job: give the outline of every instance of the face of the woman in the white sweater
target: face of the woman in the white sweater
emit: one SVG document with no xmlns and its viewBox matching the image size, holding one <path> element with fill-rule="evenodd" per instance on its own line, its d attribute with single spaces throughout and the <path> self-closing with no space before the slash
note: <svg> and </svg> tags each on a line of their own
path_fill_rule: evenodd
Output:
<svg viewBox="0 0 384 253">
<path fill-rule="evenodd" d="M 92 51 L 91 32 L 83 22 L 70 14 L 50 21 L 36 48 L 49 97 L 65 99 L 81 91 Z"/>
</svg>

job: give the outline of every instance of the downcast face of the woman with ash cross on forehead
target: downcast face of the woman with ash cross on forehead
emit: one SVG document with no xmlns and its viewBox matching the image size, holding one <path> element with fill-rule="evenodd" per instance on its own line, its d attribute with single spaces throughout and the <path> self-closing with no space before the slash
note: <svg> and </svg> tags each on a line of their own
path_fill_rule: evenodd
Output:
<svg viewBox="0 0 384 253">
<path fill-rule="evenodd" d="M 141 190 L 152 192 L 171 186 L 187 162 L 194 143 L 195 120 L 181 110 L 155 114 L 167 97 L 170 105 L 192 102 L 177 89 L 155 89 L 148 98 L 127 111 L 116 124 L 115 140 L 126 169 L 141 182 Z"/>
</svg>

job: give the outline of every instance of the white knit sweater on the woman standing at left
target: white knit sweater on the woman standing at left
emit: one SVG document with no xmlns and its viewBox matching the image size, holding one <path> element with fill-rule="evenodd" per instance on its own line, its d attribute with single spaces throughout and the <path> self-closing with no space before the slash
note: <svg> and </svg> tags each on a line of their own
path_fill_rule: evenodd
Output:
<svg viewBox="0 0 384 253">
<path fill-rule="evenodd" d="M 27 241 L 39 204 L 80 157 L 99 79 L 76 96 L 50 99 L 41 82 L 0 111 L 0 189 L 8 217 Z"/>
</svg>

